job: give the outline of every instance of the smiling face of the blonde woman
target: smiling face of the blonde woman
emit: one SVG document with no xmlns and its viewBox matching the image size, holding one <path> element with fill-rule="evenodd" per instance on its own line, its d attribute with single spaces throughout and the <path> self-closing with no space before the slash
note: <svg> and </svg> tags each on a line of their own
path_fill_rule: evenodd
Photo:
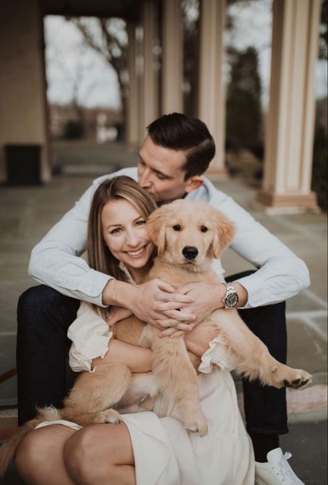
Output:
<svg viewBox="0 0 328 485">
<path fill-rule="evenodd" d="M 128 269 L 146 266 L 154 245 L 146 231 L 146 220 L 139 210 L 118 199 L 107 202 L 101 213 L 102 234 L 111 254 Z"/>
</svg>

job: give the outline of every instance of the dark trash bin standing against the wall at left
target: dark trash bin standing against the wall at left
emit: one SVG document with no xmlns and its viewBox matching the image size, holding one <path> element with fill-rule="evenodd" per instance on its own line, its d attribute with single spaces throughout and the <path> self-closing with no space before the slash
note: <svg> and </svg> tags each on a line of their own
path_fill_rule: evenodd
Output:
<svg viewBox="0 0 328 485">
<path fill-rule="evenodd" d="M 41 145 L 8 144 L 4 146 L 9 185 L 40 185 Z"/>
</svg>

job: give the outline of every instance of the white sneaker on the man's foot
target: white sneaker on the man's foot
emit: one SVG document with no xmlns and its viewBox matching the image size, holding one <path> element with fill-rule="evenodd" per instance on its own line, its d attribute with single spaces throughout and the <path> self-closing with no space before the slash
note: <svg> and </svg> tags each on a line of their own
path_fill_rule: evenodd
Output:
<svg viewBox="0 0 328 485">
<path fill-rule="evenodd" d="M 255 461 L 255 485 L 304 485 L 289 465 L 290 457 L 291 453 L 275 448 L 266 455 L 266 463 Z"/>
</svg>

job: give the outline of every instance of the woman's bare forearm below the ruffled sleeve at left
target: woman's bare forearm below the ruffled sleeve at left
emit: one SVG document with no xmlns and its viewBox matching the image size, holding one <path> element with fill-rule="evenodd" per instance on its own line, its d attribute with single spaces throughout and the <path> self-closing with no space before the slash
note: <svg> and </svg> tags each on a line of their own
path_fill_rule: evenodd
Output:
<svg viewBox="0 0 328 485">
<path fill-rule="evenodd" d="M 111 339 L 108 345 L 108 352 L 102 357 L 96 357 L 92 366 L 101 366 L 111 362 L 122 362 L 129 367 L 133 373 L 152 371 L 152 350 L 138 346 L 132 346 L 117 339 Z"/>
</svg>

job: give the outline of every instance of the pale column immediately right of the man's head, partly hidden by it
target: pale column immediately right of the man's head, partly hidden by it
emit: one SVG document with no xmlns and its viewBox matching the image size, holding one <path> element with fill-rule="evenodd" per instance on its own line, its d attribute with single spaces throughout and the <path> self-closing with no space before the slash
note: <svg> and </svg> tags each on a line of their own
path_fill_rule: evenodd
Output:
<svg viewBox="0 0 328 485">
<path fill-rule="evenodd" d="M 199 118 L 215 139 L 216 155 L 208 174 L 225 176 L 224 142 L 226 109 L 222 76 L 225 0 L 201 1 L 199 53 Z"/>
</svg>

